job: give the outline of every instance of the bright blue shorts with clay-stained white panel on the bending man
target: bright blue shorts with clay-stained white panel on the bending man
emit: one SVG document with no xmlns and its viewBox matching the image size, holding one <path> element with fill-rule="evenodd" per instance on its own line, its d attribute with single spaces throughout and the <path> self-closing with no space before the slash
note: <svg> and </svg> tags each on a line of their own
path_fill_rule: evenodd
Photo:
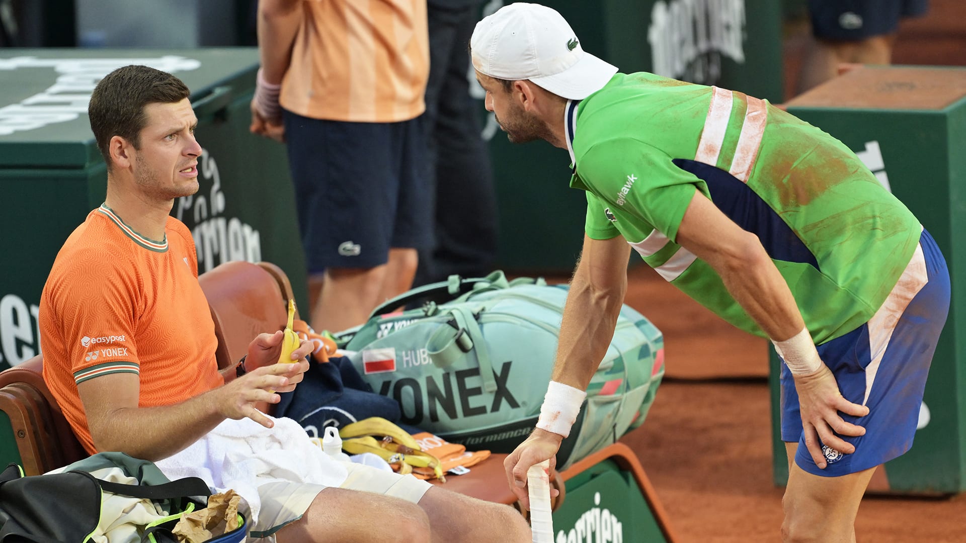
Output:
<svg viewBox="0 0 966 543">
<path fill-rule="evenodd" d="M 846 422 L 865 426 L 866 435 L 839 436 L 855 445 L 852 454 L 823 444 L 825 470 L 815 466 L 805 446 L 795 382 L 788 366 L 781 364 L 781 441 L 798 442 L 799 468 L 834 477 L 862 472 L 909 450 L 925 378 L 949 309 L 946 261 L 923 230 L 912 260 L 875 315 L 858 329 L 817 346 L 842 396 L 868 407 L 866 416 L 839 413 Z"/>
</svg>

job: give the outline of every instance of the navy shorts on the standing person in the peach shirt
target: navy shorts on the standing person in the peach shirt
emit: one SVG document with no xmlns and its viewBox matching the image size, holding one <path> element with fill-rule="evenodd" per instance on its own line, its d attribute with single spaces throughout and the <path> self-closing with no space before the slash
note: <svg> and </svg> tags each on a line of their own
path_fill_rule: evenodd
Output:
<svg viewBox="0 0 966 543">
<path fill-rule="evenodd" d="M 347 123 L 284 111 L 298 228 L 309 273 L 375 268 L 389 248 L 432 243 L 422 117 Z"/>
</svg>

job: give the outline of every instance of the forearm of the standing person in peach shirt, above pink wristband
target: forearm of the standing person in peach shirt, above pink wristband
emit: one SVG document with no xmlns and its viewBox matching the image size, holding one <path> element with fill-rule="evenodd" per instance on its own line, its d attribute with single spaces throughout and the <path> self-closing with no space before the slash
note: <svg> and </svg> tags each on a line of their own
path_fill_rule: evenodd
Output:
<svg viewBox="0 0 966 543">
<path fill-rule="evenodd" d="M 281 83 L 289 68 L 292 46 L 301 23 L 298 0 L 260 0 L 258 6 L 258 44 L 265 79 Z"/>
</svg>

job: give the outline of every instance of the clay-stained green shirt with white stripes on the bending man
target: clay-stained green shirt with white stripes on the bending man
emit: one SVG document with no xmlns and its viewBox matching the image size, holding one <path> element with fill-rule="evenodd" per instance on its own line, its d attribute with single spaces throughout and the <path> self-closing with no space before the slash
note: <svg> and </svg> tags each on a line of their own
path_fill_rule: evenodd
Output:
<svg viewBox="0 0 966 543">
<path fill-rule="evenodd" d="M 756 234 L 816 344 L 866 323 L 912 258 L 922 225 L 828 133 L 739 92 L 617 73 L 569 102 L 585 231 L 623 236 L 725 321 L 765 336 L 707 263 L 675 243 L 695 189 Z"/>
</svg>

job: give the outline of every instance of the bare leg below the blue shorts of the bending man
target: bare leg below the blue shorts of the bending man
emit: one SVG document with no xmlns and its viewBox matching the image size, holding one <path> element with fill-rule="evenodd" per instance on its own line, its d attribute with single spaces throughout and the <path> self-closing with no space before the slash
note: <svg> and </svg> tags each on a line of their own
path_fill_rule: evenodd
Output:
<svg viewBox="0 0 966 543">
<path fill-rule="evenodd" d="M 788 486 L 781 504 L 781 539 L 855 543 L 855 516 L 875 468 L 839 477 L 812 475 L 794 462 L 798 443 L 785 443 Z"/>
</svg>

